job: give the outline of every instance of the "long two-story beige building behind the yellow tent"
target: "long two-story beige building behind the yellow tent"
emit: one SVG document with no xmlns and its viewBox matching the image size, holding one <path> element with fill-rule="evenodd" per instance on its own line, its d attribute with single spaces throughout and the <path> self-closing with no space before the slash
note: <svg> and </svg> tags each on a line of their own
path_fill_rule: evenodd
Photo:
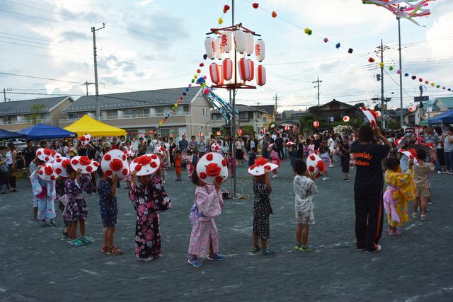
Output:
<svg viewBox="0 0 453 302">
<path fill-rule="evenodd" d="M 155 129 L 162 137 L 173 134 L 176 141 L 183 133 L 188 137 L 197 137 L 199 132 L 211 134 L 211 106 L 198 87 L 185 92 L 187 95 L 176 112 L 156 129 L 183 92 L 185 88 L 99 95 L 101 122 L 125 129 L 131 136 L 144 135 Z M 63 112 L 65 116 L 59 120 L 59 127 L 67 127 L 85 114 L 96 117 L 96 98 L 94 95 L 82 96 Z"/>
</svg>

